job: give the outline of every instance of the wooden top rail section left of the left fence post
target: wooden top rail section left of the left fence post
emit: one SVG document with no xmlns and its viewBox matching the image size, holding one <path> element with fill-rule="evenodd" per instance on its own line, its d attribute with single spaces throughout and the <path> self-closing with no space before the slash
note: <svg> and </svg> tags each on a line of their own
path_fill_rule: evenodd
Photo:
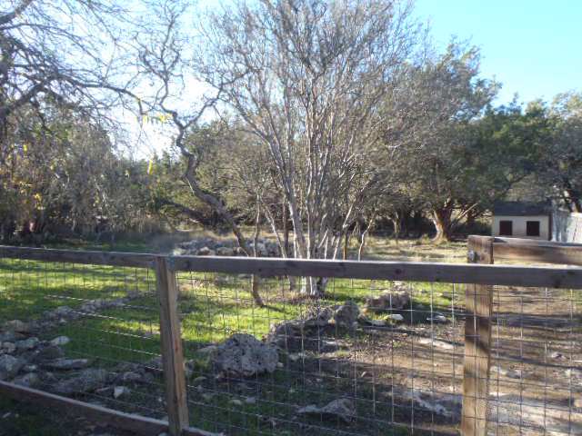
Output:
<svg viewBox="0 0 582 436">
<path fill-rule="evenodd" d="M 1 258 L 151 268 L 154 265 L 156 256 L 154 254 L 144 253 L 89 252 L 0 245 Z"/>
</svg>

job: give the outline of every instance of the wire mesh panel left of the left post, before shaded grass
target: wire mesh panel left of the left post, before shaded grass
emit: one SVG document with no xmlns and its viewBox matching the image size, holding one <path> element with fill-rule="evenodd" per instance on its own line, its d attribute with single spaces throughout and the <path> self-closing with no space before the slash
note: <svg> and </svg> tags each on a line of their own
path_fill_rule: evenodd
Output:
<svg viewBox="0 0 582 436">
<path fill-rule="evenodd" d="M 15 381 L 119 411 L 166 415 L 152 271 L 2 259 L 0 326 L 14 320 L 30 327 L 17 333 L 16 346 L 39 341 L 11 352 L 25 362 Z M 68 343 L 50 344 L 59 337 Z M 55 367 L 64 360 L 74 368 Z"/>
</svg>

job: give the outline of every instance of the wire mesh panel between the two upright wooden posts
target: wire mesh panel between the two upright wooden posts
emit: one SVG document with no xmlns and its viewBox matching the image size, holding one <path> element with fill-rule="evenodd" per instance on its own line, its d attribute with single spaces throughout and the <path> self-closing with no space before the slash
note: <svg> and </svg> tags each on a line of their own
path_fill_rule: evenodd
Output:
<svg viewBox="0 0 582 436">
<path fill-rule="evenodd" d="M 178 276 L 191 425 L 226 434 L 455 434 L 464 352 L 457 285 L 330 278 L 325 296 L 311 299 L 286 278 L 264 279 L 260 308 L 251 283 L 245 275 Z M 273 342 L 282 323 L 306 322 L 348 301 L 364 311 L 366 298 L 382 292 L 406 293 L 410 302 L 362 313 L 350 327 L 332 318 L 289 332 L 283 343 L 278 338 L 272 373 L 220 373 L 209 357 L 236 333 Z M 337 400 L 353 411 L 301 411 Z"/>
</svg>

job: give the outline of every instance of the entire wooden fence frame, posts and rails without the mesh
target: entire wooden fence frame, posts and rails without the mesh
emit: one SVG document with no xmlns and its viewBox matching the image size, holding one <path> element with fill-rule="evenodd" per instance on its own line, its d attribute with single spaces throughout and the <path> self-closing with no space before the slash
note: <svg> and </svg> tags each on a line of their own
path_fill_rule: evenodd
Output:
<svg viewBox="0 0 582 436">
<path fill-rule="evenodd" d="M 208 435 L 188 427 L 184 356 L 177 314 L 176 272 L 252 273 L 260 276 L 312 276 L 410 282 L 466 283 L 467 322 L 464 368 L 464 401 L 461 431 L 464 436 L 484 436 L 487 431 L 487 394 L 490 355 L 491 285 L 582 289 L 582 268 L 494 265 L 503 259 L 556 261 L 582 264 L 582 245 L 536 244 L 529 241 L 471 237 L 473 263 L 407 263 L 290 260 L 240 257 L 162 256 L 147 253 L 107 253 L 0 246 L 0 259 L 54 263 L 82 263 L 156 270 L 160 302 L 160 331 L 166 379 L 168 422 L 147 420 L 110 411 L 13 383 L 0 382 L 0 391 L 44 404 L 75 407 L 89 416 L 99 416 L 126 430 L 172 435 Z M 551 253 L 551 254 L 548 254 Z M 146 431 L 150 426 L 152 431 Z"/>
</svg>

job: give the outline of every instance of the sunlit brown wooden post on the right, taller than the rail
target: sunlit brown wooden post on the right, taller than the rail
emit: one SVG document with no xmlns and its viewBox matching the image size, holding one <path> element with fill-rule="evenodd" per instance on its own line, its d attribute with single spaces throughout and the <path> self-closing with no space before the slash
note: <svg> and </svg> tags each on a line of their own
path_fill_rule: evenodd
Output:
<svg viewBox="0 0 582 436">
<path fill-rule="evenodd" d="M 468 262 L 493 263 L 493 237 L 469 236 Z M 491 357 L 493 286 L 467 284 L 463 367 L 463 436 L 487 435 L 487 397 Z"/>
</svg>

